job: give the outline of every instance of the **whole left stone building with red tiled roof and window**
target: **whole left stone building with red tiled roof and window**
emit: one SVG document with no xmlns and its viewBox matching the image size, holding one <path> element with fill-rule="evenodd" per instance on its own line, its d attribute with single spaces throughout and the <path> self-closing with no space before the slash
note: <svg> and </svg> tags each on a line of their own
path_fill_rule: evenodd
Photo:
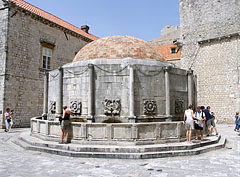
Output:
<svg viewBox="0 0 240 177">
<path fill-rule="evenodd" d="M 42 112 L 43 75 L 72 61 L 97 39 L 23 0 L 0 0 L 0 127 L 7 107 L 15 126 L 29 126 Z"/>
</svg>

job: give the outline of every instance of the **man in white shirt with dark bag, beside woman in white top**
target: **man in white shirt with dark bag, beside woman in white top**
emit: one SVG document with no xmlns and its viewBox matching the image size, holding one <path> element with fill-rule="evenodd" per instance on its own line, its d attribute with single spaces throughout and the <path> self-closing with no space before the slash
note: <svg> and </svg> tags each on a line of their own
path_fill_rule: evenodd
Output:
<svg viewBox="0 0 240 177">
<path fill-rule="evenodd" d="M 197 107 L 197 112 L 195 112 L 195 123 L 194 128 L 196 130 L 196 140 L 198 140 L 198 131 L 201 133 L 201 141 L 203 140 L 203 121 L 206 120 L 205 113 L 202 112 L 201 107 Z"/>
</svg>

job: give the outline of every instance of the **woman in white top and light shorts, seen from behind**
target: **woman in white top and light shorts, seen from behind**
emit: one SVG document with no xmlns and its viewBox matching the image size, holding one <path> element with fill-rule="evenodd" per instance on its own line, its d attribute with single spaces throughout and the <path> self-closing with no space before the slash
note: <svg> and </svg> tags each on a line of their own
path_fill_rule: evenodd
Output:
<svg viewBox="0 0 240 177">
<path fill-rule="evenodd" d="M 185 129 L 187 130 L 187 142 L 191 142 L 192 130 L 194 129 L 194 114 L 193 114 L 193 106 L 189 105 L 188 109 L 184 113 L 184 124 Z"/>
</svg>

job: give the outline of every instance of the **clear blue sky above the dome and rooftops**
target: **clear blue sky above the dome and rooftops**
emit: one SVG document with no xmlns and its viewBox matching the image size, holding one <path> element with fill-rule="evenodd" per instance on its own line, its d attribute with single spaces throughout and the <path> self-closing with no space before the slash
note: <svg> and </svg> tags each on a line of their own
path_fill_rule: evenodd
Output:
<svg viewBox="0 0 240 177">
<path fill-rule="evenodd" d="M 25 0 L 89 33 L 104 37 L 157 38 L 166 25 L 179 24 L 179 0 Z"/>
</svg>

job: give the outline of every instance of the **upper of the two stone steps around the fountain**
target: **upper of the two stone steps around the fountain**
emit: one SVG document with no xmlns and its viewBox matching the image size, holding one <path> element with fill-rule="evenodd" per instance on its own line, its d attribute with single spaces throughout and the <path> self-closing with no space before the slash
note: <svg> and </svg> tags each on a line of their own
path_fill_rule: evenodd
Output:
<svg viewBox="0 0 240 177">
<path fill-rule="evenodd" d="M 221 136 L 211 137 L 206 141 L 197 141 L 193 144 L 169 143 L 169 144 L 153 144 L 153 145 L 139 145 L 139 146 L 116 146 L 116 145 L 80 145 L 80 144 L 58 144 L 56 142 L 43 141 L 32 137 L 29 134 L 20 135 L 20 140 L 31 146 L 46 147 L 59 150 L 68 150 L 74 152 L 105 152 L 105 153 L 144 153 L 144 152 L 159 152 L 159 151 L 178 151 L 191 150 L 216 144 L 221 139 Z"/>
</svg>

